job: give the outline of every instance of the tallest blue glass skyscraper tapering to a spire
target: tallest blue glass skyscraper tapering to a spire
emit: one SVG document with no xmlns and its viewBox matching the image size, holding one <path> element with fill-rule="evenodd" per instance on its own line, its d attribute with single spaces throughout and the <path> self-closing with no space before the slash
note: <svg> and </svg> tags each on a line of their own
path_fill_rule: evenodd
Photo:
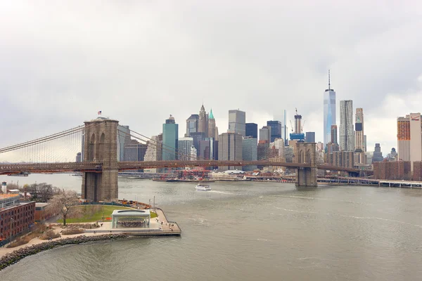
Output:
<svg viewBox="0 0 422 281">
<path fill-rule="evenodd" d="M 331 140 L 331 125 L 335 125 L 335 91 L 331 89 L 328 70 L 328 89 L 324 92 L 324 145 Z"/>
</svg>

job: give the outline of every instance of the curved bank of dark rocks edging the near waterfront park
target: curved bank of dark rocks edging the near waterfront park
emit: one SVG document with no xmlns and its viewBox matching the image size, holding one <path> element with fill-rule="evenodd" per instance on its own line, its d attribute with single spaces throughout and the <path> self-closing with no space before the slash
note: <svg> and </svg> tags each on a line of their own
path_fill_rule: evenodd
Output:
<svg viewBox="0 0 422 281">
<path fill-rule="evenodd" d="M 49 249 L 53 249 L 58 246 L 68 245 L 68 244 L 80 244 L 85 242 L 91 241 L 99 241 L 99 240 L 116 240 L 120 238 L 129 237 L 127 234 L 105 234 L 105 235 L 96 235 L 96 236 L 84 236 L 80 235 L 77 237 L 71 238 L 64 238 L 59 240 L 53 240 L 49 242 L 43 242 L 41 244 L 35 244 L 30 247 L 23 247 L 16 251 L 11 252 L 10 254 L 6 254 L 0 259 L 0 270 L 11 266 L 13 263 L 17 263 L 21 259 L 25 258 L 25 256 L 31 256 L 33 254 L 37 254 L 41 251 L 46 251 Z"/>
</svg>

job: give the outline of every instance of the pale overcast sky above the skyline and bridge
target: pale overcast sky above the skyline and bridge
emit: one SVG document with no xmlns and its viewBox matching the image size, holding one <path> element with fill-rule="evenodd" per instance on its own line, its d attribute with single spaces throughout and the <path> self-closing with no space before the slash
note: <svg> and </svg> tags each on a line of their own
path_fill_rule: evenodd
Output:
<svg viewBox="0 0 422 281">
<path fill-rule="evenodd" d="M 338 119 L 363 107 L 385 155 L 422 111 L 421 30 L 419 1 L 0 1 L 0 147 L 98 110 L 146 136 L 172 114 L 183 136 L 202 103 L 220 133 L 231 109 L 262 127 L 297 107 L 323 141 L 331 69 Z"/>
</svg>

